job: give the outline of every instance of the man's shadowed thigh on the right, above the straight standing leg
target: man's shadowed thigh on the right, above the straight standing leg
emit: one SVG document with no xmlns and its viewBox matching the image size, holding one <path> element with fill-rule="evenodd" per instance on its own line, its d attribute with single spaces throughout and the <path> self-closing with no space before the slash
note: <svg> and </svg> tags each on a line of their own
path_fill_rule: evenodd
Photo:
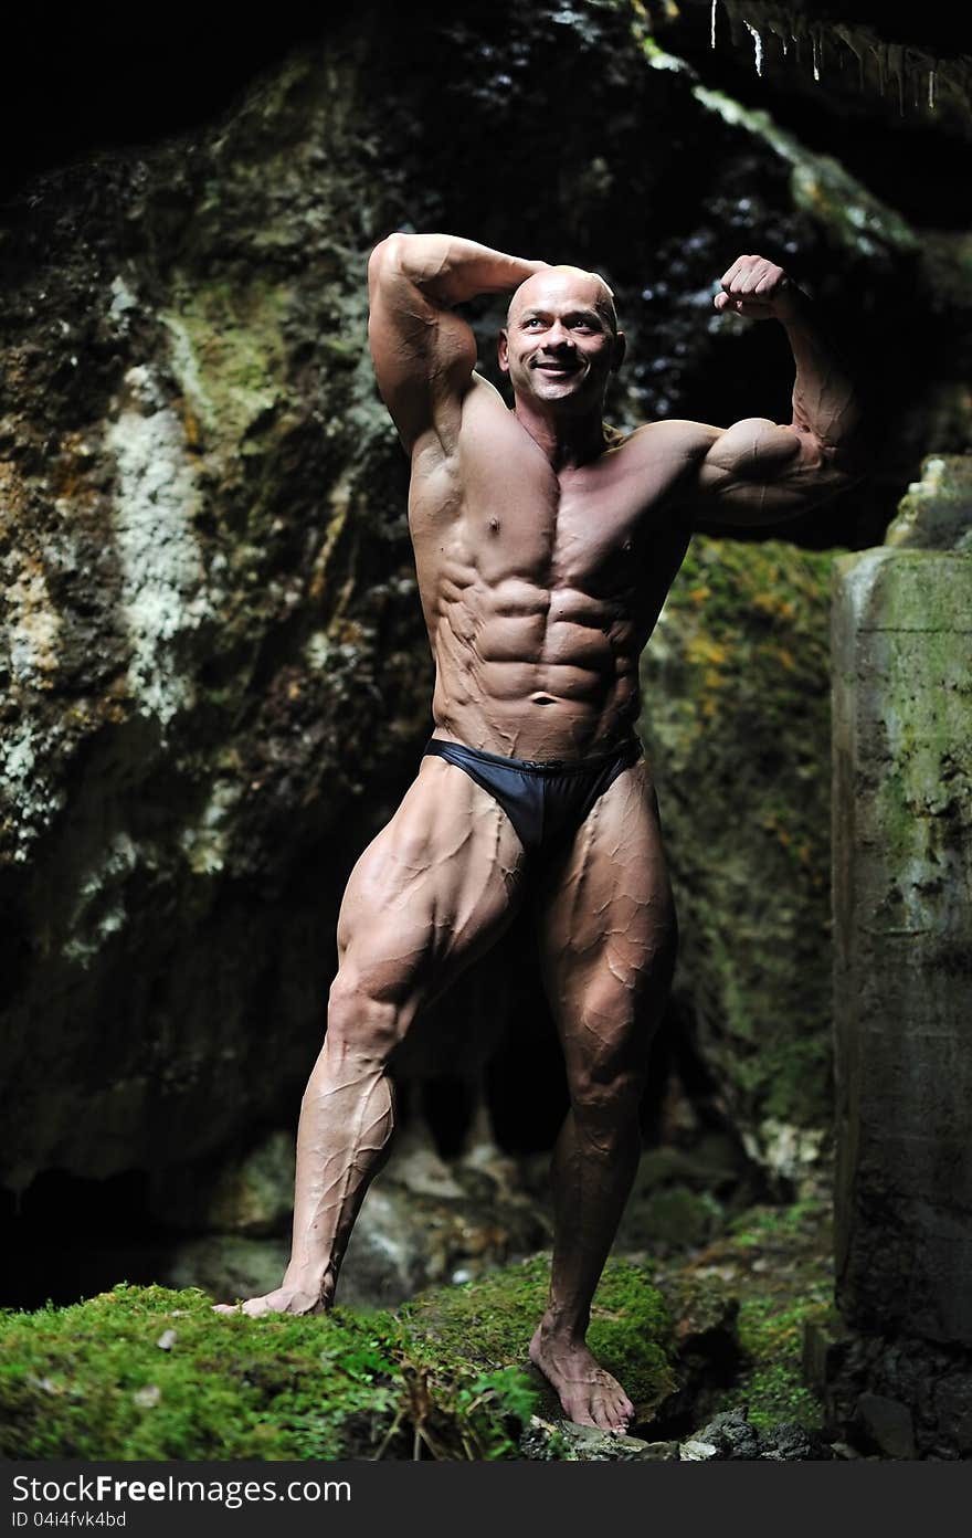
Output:
<svg viewBox="0 0 972 1538">
<path fill-rule="evenodd" d="M 538 881 L 534 917 L 568 1074 L 643 1054 L 677 950 L 675 904 L 654 786 L 632 764 L 592 806 Z"/>
</svg>

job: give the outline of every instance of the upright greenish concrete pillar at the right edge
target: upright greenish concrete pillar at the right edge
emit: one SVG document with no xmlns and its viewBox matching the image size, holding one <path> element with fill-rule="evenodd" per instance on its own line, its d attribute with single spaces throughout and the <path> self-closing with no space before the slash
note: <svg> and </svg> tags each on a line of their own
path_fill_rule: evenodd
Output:
<svg viewBox="0 0 972 1538">
<path fill-rule="evenodd" d="M 837 1303 L 972 1346 L 972 555 L 834 572 Z"/>
</svg>

